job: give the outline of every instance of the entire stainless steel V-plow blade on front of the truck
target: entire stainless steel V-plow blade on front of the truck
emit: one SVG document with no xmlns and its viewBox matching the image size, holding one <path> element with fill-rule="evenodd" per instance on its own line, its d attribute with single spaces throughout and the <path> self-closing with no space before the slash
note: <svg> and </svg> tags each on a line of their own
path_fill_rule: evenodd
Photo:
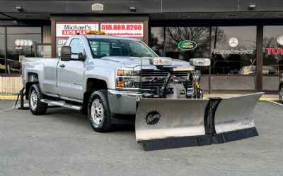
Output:
<svg viewBox="0 0 283 176">
<path fill-rule="evenodd" d="M 251 115 L 262 94 L 212 99 L 141 99 L 135 122 L 137 142 L 150 151 L 257 136 Z"/>
</svg>

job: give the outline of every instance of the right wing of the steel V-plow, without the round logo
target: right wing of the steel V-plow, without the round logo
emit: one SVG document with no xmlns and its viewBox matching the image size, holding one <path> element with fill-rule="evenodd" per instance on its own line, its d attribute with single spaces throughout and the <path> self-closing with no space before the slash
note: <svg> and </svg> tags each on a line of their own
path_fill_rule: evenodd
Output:
<svg viewBox="0 0 283 176">
<path fill-rule="evenodd" d="M 258 136 L 253 117 L 254 108 L 263 92 L 246 94 L 223 99 L 210 99 L 209 103 L 217 105 L 211 107 L 214 115 L 211 115 L 211 122 L 214 122 L 212 130 L 212 142 L 224 143 L 248 137 Z M 211 112 L 211 111 L 210 111 Z"/>
</svg>

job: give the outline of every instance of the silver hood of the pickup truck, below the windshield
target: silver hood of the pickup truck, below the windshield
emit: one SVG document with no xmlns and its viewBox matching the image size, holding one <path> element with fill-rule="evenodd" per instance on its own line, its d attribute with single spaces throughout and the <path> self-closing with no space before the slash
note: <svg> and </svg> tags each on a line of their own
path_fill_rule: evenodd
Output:
<svg viewBox="0 0 283 176">
<path fill-rule="evenodd" d="M 149 63 L 149 58 L 138 58 L 138 57 L 125 57 L 125 56 L 111 56 L 111 57 L 103 57 L 100 58 L 106 61 L 112 61 L 116 63 L 120 63 L 125 65 L 127 68 L 141 68 L 141 69 L 156 69 L 155 65 L 151 65 Z M 187 61 L 182 61 L 178 59 L 172 59 L 171 67 L 180 67 L 180 66 L 190 66 L 194 68 L 194 66 L 190 65 Z"/>
</svg>

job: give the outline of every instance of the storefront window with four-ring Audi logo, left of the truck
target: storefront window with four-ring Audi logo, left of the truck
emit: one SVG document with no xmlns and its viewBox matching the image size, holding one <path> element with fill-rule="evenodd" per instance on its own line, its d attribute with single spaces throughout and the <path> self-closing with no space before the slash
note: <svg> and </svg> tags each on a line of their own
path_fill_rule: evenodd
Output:
<svg viewBox="0 0 283 176">
<path fill-rule="evenodd" d="M 20 73 L 21 61 L 35 56 L 41 38 L 41 27 L 7 27 L 7 73 Z"/>
</svg>

